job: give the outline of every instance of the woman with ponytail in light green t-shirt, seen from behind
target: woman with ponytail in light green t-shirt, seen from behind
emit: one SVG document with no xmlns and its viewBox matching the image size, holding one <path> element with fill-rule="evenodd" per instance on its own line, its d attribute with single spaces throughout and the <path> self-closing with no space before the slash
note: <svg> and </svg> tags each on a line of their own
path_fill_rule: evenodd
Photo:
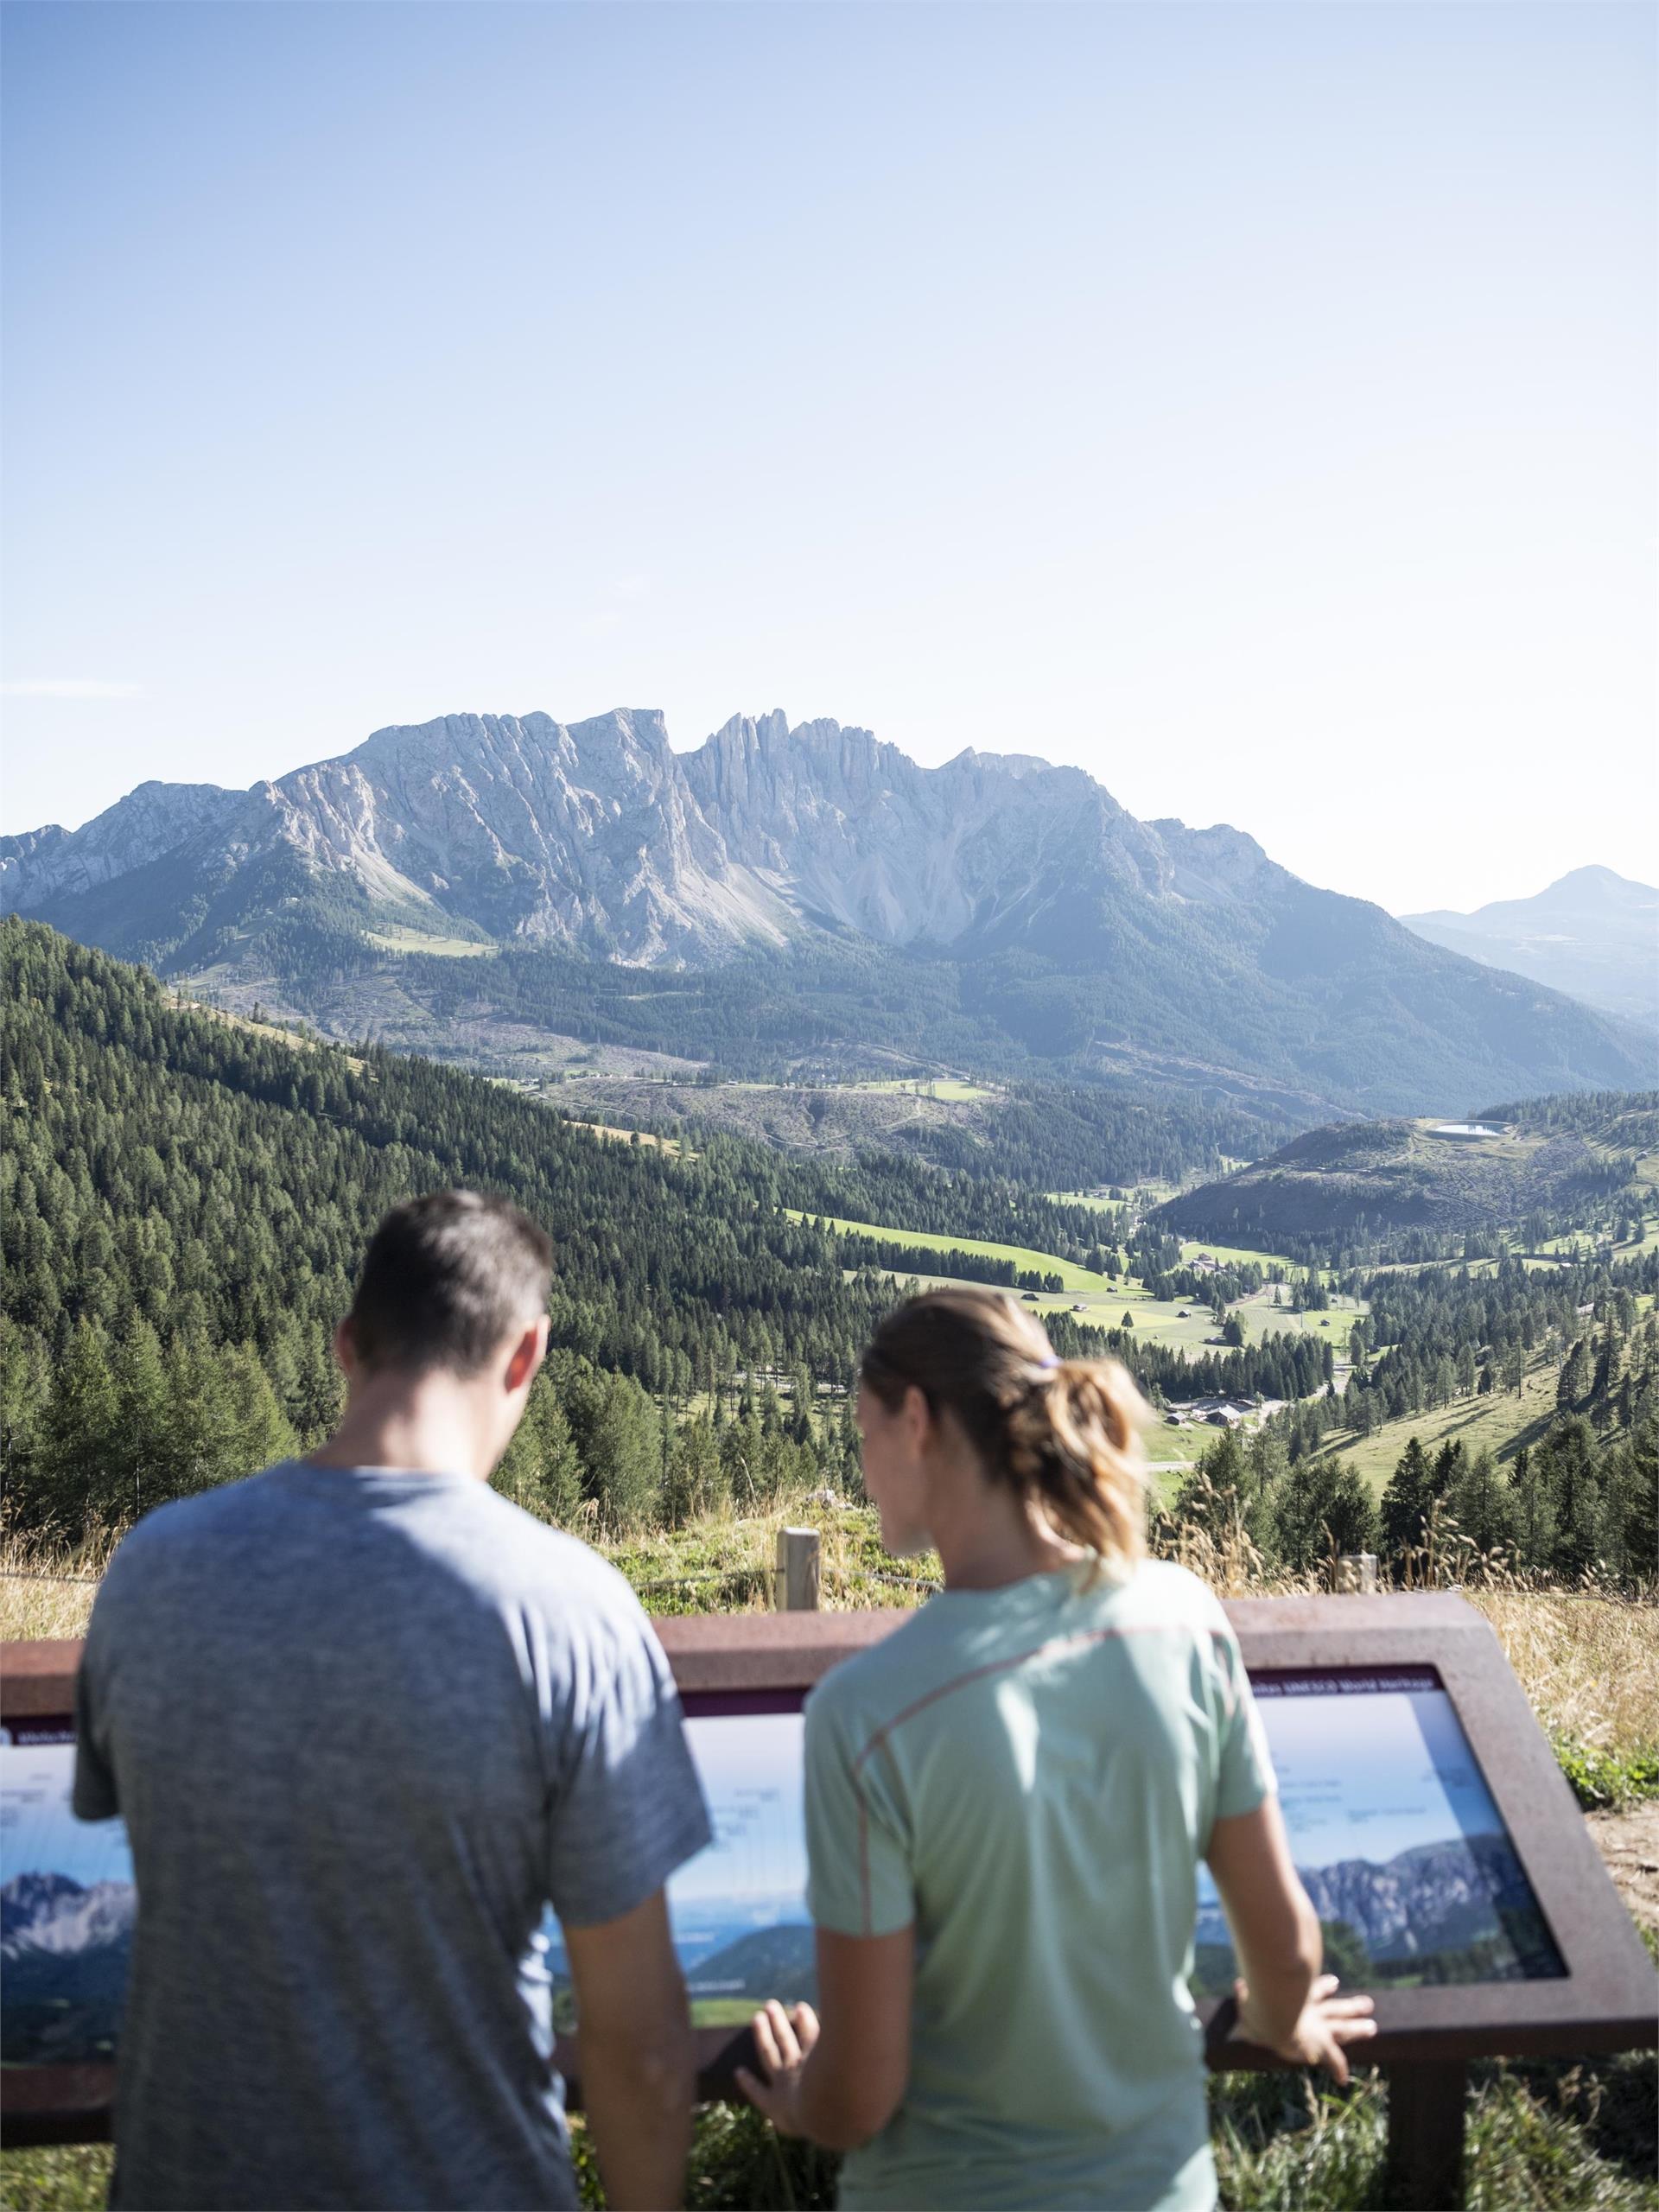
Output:
<svg viewBox="0 0 1659 2212">
<path fill-rule="evenodd" d="M 1192 1966 L 1208 1858 L 1239 2035 L 1347 2079 L 1228 1619 L 1144 1557 L 1135 1385 L 1000 1292 L 911 1298 L 858 1389 L 887 1551 L 945 1590 L 807 1703 L 818 2002 L 752 2101 L 847 2150 L 843 2205 L 1208 2208 Z"/>
</svg>

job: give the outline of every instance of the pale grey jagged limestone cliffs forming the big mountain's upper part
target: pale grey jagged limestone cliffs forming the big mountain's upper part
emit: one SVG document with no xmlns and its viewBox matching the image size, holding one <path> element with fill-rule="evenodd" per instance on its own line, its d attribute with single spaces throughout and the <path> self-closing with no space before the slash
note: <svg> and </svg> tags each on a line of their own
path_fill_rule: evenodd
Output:
<svg viewBox="0 0 1659 2212">
<path fill-rule="evenodd" d="M 732 717 L 677 754 L 657 712 L 445 714 L 250 792 L 146 783 L 84 830 L 4 838 L 0 894 L 62 911 L 164 858 L 184 887 L 279 856 L 416 925 L 661 964 L 823 927 L 1006 942 L 1075 925 L 1079 898 L 1221 896 L 1164 832 L 1192 836 L 1082 770 L 978 752 L 929 770 L 836 721 Z"/>
</svg>

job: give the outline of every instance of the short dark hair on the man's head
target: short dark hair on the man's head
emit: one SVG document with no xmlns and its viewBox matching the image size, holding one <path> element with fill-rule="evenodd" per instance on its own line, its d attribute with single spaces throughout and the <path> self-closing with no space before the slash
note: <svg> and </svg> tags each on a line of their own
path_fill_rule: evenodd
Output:
<svg viewBox="0 0 1659 2212">
<path fill-rule="evenodd" d="M 352 1298 L 365 1367 L 471 1376 L 513 1329 L 546 1312 L 553 1241 L 507 1199 L 429 1190 L 394 1206 L 369 1239 Z"/>
</svg>

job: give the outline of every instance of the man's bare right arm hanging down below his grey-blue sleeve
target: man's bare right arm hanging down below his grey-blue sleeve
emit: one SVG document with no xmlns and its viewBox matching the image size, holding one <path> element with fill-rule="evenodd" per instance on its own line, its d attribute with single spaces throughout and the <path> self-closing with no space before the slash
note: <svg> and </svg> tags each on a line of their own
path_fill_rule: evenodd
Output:
<svg viewBox="0 0 1659 2212">
<path fill-rule="evenodd" d="M 619 1920 L 566 1929 L 582 2033 L 582 2104 L 613 2212 L 686 2194 L 697 2088 L 686 1982 L 661 1889 Z"/>
</svg>

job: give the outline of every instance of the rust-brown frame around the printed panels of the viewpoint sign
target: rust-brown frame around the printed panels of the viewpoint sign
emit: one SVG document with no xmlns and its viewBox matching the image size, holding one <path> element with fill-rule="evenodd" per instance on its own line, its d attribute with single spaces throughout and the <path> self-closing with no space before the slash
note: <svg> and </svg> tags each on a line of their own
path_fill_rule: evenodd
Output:
<svg viewBox="0 0 1659 2212">
<path fill-rule="evenodd" d="M 1433 1666 L 1486 1787 L 1555 1933 L 1568 1973 L 1555 1982 L 1460 1982 L 1378 1991 L 1378 2037 L 1367 2064 L 1462 2064 L 1471 2057 L 1548 2057 L 1659 2044 L 1659 1982 L 1601 1865 L 1526 1694 L 1491 1628 L 1449 1593 L 1389 1597 L 1248 1597 L 1228 1604 L 1245 1666 Z M 836 1661 L 880 1641 L 907 1613 L 734 1613 L 657 1621 L 686 1697 L 810 1690 Z M 7 1644 L 0 1719 L 73 1710 L 80 1644 Z M 1201 2006 L 1208 2022 L 1214 2004 Z M 748 2031 L 697 2035 L 701 2093 L 730 2090 Z M 560 2044 L 580 2095 L 580 2048 Z M 1250 2044 L 1212 2048 L 1219 2068 L 1279 2064 Z M 7 2068 L 7 2141 L 88 2141 L 108 2135 L 113 2068 Z"/>
</svg>

